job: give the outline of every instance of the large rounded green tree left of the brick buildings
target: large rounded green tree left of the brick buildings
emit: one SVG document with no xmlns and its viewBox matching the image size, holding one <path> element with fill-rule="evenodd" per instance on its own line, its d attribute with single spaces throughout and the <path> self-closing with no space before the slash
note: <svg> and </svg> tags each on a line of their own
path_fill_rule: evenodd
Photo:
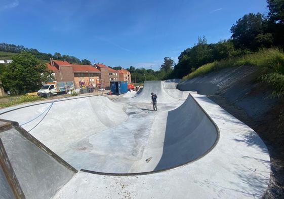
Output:
<svg viewBox="0 0 284 199">
<path fill-rule="evenodd" d="M 2 75 L 2 81 L 4 88 L 13 95 L 35 92 L 42 87 L 42 82 L 53 79 L 47 65 L 31 53 L 21 52 L 12 60 Z"/>
</svg>

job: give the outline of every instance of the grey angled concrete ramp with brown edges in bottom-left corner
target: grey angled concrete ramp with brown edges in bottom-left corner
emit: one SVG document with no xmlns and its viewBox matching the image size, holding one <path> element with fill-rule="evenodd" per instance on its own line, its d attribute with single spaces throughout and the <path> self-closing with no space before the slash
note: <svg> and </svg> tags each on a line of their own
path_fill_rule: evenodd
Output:
<svg viewBox="0 0 284 199">
<path fill-rule="evenodd" d="M 6 160 L 0 170 L 3 198 L 14 198 L 12 191 L 15 198 L 52 198 L 77 172 L 21 127 L 0 133 L 0 148 Z"/>
</svg>

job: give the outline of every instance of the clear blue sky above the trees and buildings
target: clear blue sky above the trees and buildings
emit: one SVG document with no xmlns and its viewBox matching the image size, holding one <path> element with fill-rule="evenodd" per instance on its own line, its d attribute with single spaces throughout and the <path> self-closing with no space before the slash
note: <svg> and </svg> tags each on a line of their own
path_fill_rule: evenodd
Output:
<svg viewBox="0 0 284 199">
<path fill-rule="evenodd" d="M 230 37 L 247 13 L 267 14 L 265 0 L 0 0 L 0 42 L 92 63 L 159 69 L 198 36 Z"/>
</svg>

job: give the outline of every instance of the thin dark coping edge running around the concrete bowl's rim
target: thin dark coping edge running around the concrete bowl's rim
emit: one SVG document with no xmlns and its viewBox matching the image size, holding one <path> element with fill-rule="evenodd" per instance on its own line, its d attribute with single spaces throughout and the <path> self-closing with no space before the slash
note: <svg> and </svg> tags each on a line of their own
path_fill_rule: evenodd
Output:
<svg viewBox="0 0 284 199">
<path fill-rule="evenodd" d="M 75 99 L 80 99 L 80 98 L 88 98 L 88 97 L 96 97 L 96 96 L 100 96 L 100 95 L 92 95 L 92 96 L 82 96 L 82 97 L 71 97 L 71 98 L 65 98 L 65 99 L 57 99 L 57 100 L 49 100 L 47 102 L 39 102 L 39 103 L 34 103 L 34 104 L 27 104 L 27 105 L 24 105 L 24 106 L 21 106 L 20 107 L 15 107 L 14 109 L 9 109 L 7 111 L 4 111 L 4 112 L 0 112 L 0 115 L 3 115 L 5 113 L 8 113 L 8 112 L 11 112 L 11 111 L 15 111 L 15 110 L 18 110 L 18 109 L 22 109 L 22 108 L 26 108 L 26 107 L 30 107 L 30 106 L 36 106 L 36 105 L 41 105 L 41 104 L 48 104 L 48 103 L 57 103 L 57 102 L 61 102 L 61 101 L 67 101 L 67 100 L 75 100 Z M 165 169 L 160 169 L 160 170 L 155 170 L 155 171 L 147 171 L 147 172 L 137 172 L 137 173 L 108 173 L 108 172 L 97 172 L 97 171 L 91 171 L 91 170 L 86 170 L 86 169 L 80 169 L 81 172 L 86 172 L 86 173 L 91 173 L 91 174 L 97 174 L 97 175 L 105 175 L 105 176 L 140 176 L 140 175 L 148 175 L 148 174 L 155 174 L 155 173 L 160 173 L 160 172 L 164 172 L 164 171 L 169 171 L 169 170 L 173 170 L 173 169 L 177 169 L 177 168 L 180 168 L 180 167 L 183 167 L 183 166 L 186 166 L 190 163 L 193 163 L 193 162 L 196 162 L 198 161 L 200 158 L 206 156 L 208 153 L 210 153 L 210 151 L 217 145 L 218 141 L 219 141 L 219 138 L 220 138 L 220 130 L 219 130 L 219 127 L 216 125 L 216 123 L 212 120 L 212 118 L 209 116 L 209 114 L 204 110 L 204 108 L 202 108 L 202 106 L 197 102 L 197 100 L 189 93 L 189 96 L 190 98 L 193 99 L 193 101 L 197 104 L 197 106 L 201 109 L 201 111 L 203 113 L 205 113 L 205 115 L 209 118 L 210 122 L 213 124 L 213 126 L 215 127 L 216 129 L 216 140 L 215 142 L 213 143 L 213 145 L 207 150 L 205 151 L 204 153 L 202 153 L 201 155 L 195 157 L 193 160 L 189 161 L 189 162 L 186 162 L 186 163 L 183 163 L 183 164 L 180 164 L 178 166 L 173 166 L 173 167 L 169 167 L 169 168 L 165 168 Z M 188 97 L 189 97 L 188 96 Z M 185 102 L 186 100 L 184 100 Z M 184 103 L 183 102 L 183 103 Z M 176 108 L 179 108 L 176 107 Z M 176 109 L 175 108 L 175 109 Z M 1 111 L 1 110 L 0 110 Z M 47 113 L 48 114 L 48 113 Z M 45 117 L 45 116 L 44 116 Z M 0 118 L 0 121 L 4 121 L 4 122 L 10 122 L 13 126 L 13 128 L 17 127 L 17 126 L 20 126 L 18 122 L 16 121 L 9 121 L 9 120 L 5 120 L 5 119 L 2 119 Z M 25 130 L 26 131 L 26 130 Z M 31 135 L 32 136 L 32 135 Z M 34 137 L 34 136 L 32 136 Z M 36 139 L 36 138 L 35 138 Z M 37 139 L 36 139 L 37 140 Z M 38 140 L 39 141 L 39 140 Z M 39 141 L 40 142 L 40 141 Z M 42 142 L 40 142 L 42 143 Z M 44 143 L 42 143 L 43 145 L 45 145 Z M 64 160 L 64 159 L 63 159 Z M 65 162 L 65 160 L 64 160 Z M 67 162 L 66 162 L 67 163 Z M 69 164 L 69 163 L 68 163 Z M 72 168 L 73 166 L 71 164 L 69 164 Z M 64 164 L 64 166 L 66 166 Z M 75 171 L 78 171 L 77 169 L 73 168 Z"/>
</svg>

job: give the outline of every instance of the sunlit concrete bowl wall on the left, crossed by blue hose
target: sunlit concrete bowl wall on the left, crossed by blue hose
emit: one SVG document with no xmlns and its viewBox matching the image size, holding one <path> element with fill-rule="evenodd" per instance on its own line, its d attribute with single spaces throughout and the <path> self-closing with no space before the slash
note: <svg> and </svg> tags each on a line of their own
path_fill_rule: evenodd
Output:
<svg viewBox="0 0 284 199">
<path fill-rule="evenodd" d="M 27 131 L 32 129 L 30 133 L 36 139 L 60 156 L 83 138 L 114 127 L 128 118 L 123 105 L 102 96 L 56 101 L 45 114 L 50 105 L 17 109 L 0 115 L 0 118 L 17 121 Z M 78 147 L 76 149 L 82 151 Z"/>
</svg>

